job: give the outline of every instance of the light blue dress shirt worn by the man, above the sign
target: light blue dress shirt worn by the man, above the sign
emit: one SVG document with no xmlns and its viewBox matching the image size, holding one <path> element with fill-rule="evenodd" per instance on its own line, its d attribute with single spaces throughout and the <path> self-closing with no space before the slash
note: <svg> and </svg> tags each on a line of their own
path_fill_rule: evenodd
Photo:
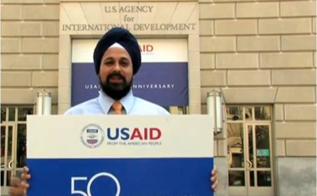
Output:
<svg viewBox="0 0 317 196">
<path fill-rule="evenodd" d="M 113 100 L 107 96 L 103 91 L 100 91 L 97 98 L 93 98 L 79 105 L 71 107 L 64 113 L 65 115 L 93 115 L 93 114 L 113 114 L 111 108 Z M 120 100 L 123 105 L 122 113 L 128 115 L 168 115 L 169 112 L 163 107 L 156 105 L 147 100 L 134 97 L 130 91 L 124 98 Z"/>
</svg>

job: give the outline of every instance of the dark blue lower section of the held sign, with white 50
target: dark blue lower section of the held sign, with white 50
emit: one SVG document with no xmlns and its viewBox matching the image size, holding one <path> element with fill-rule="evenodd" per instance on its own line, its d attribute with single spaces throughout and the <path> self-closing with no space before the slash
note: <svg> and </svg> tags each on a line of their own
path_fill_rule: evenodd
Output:
<svg viewBox="0 0 317 196">
<path fill-rule="evenodd" d="M 27 165 L 27 196 L 115 196 L 118 187 L 120 196 L 213 195 L 211 157 L 29 159 Z"/>
</svg>

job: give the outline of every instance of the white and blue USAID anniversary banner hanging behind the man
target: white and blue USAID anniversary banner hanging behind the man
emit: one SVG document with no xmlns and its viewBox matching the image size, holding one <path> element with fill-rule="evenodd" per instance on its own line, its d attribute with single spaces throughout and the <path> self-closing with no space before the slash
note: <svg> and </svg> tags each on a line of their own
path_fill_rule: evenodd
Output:
<svg viewBox="0 0 317 196">
<path fill-rule="evenodd" d="M 97 40 L 73 40 L 71 105 L 98 96 L 93 65 Z M 142 65 L 134 76 L 133 93 L 163 107 L 188 106 L 187 39 L 140 39 Z"/>
</svg>

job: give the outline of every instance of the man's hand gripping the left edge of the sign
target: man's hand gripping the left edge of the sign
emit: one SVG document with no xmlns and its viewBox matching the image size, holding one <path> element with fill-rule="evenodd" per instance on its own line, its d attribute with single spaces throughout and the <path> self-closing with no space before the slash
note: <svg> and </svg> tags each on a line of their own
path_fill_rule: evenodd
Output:
<svg viewBox="0 0 317 196">
<path fill-rule="evenodd" d="M 23 173 L 21 179 L 14 177 L 11 180 L 10 195 L 11 196 L 25 196 L 26 190 L 29 188 L 27 184 L 27 179 L 30 179 L 31 175 L 29 174 L 29 168 L 27 166 L 23 167 Z"/>
</svg>

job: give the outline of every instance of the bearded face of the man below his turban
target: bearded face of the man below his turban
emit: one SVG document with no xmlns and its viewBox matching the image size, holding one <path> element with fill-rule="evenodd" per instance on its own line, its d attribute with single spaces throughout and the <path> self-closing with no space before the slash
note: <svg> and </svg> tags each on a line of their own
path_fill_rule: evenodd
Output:
<svg viewBox="0 0 317 196">
<path fill-rule="evenodd" d="M 126 96 L 131 89 L 133 67 L 124 48 L 110 47 L 102 56 L 99 80 L 105 94 L 115 100 Z"/>
</svg>

